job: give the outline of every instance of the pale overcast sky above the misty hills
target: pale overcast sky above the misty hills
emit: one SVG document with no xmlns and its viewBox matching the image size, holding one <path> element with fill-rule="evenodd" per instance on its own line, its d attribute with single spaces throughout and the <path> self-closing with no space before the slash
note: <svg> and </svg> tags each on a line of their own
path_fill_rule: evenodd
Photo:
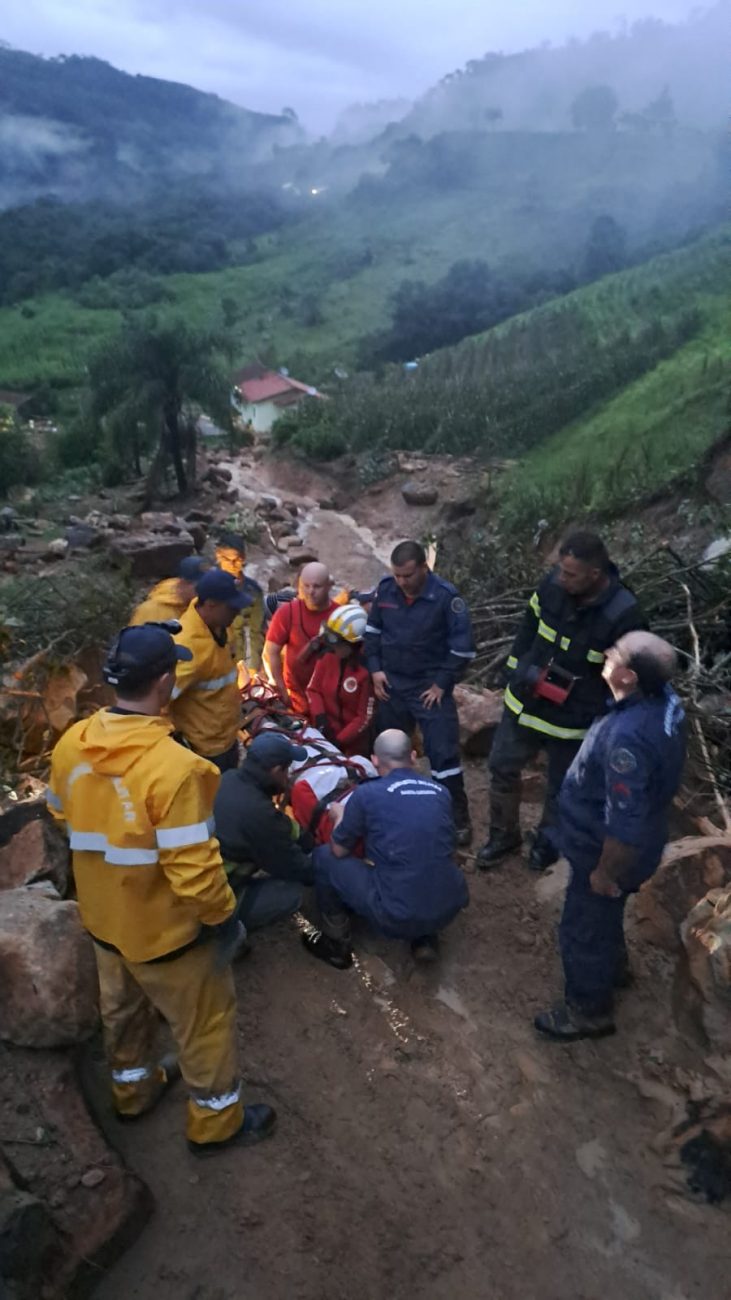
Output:
<svg viewBox="0 0 731 1300">
<path fill-rule="evenodd" d="M 0 38 L 40 55 L 96 55 L 316 131 L 358 100 L 419 95 L 488 49 L 510 52 L 693 0 L 3 0 Z"/>
</svg>

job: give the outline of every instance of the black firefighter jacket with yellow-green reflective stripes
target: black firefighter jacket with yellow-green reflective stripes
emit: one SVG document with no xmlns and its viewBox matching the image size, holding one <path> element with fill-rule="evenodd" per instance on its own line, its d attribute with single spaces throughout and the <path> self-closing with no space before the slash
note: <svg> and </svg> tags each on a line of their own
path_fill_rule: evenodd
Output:
<svg viewBox="0 0 731 1300">
<path fill-rule="evenodd" d="M 565 592 L 558 568 L 552 569 L 528 602 L 507 659 L 506 708 L 522 727 L 544 736 L 583 740 L 609 701 L 602 679 L 605 650 L 637 628 L 646 628 L 645 619 L 614 566 L 609 585 L 587 604 Z M 549 664 L 574 679 L 563 703 L 535 694 L 535 680 Z"/>
</svg>

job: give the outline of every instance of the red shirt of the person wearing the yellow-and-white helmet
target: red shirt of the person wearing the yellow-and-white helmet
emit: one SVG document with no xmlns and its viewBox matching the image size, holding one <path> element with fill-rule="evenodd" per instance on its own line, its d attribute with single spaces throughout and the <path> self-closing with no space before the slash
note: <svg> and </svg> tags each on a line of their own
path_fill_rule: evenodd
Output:
<svg viewBox="0 0 731 1300">
<path fill-rule="evenodd" d="M 346 758 L 363 754 L 371 720 L 371 673 L 358 659 L 324 654 L 310 679 L 307 701 L 312 723 L 325 715 L 328 734 Z"/>
</svg>

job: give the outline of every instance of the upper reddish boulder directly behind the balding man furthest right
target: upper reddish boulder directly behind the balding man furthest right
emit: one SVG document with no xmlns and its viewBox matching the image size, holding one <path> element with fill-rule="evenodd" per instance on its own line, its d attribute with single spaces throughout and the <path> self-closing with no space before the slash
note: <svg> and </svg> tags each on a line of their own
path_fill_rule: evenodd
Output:
<svg viewBox="0 0 731 1300">
<path fill-rule="evenodd" d="M 728 836 L 689 836 L 665 852 L 654 876 L 635 898 L 640 933 L 667 952 L 682 950 L 680 927 L 709 889 L 731 884 Z"/>
</svg>

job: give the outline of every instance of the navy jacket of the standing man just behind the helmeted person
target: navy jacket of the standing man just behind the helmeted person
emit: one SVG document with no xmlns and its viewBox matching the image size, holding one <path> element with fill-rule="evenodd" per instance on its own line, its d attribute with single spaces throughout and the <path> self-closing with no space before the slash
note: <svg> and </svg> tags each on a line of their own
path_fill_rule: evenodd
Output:
<svg viewBox="0 0 731 1300">
<path fill-rule="evenodd" d="M 436 684 L 451 692 L 475 658 L 467 606 L 457 588 L 436 573 L 411 601 L 395 578 L 381 578 L 364 646 L 368 671 L 385 672 L 397 688 Z"/>
</svg>

